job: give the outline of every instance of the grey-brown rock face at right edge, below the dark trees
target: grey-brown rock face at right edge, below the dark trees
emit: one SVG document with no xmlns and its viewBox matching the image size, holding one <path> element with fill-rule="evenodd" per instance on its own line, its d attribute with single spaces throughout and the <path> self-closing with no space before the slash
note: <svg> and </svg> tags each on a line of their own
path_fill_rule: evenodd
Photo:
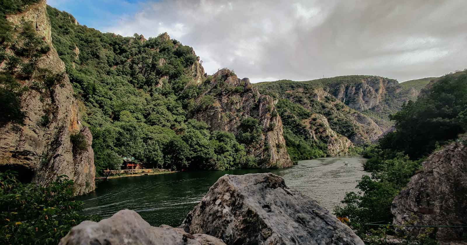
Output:
<svg viewBox="0 0 467 245">
<path fill-rule="evenodd" d="M 467 225 L 467 137 L 433 153 L 424 161 L 423 173 L 414 175 L 392 203 L 394 224 Z M 424 228 L 408 228 L 417 235 Z M 467 228 L 439 228 L 441 240 L 462 239 Z"/>
</svg>

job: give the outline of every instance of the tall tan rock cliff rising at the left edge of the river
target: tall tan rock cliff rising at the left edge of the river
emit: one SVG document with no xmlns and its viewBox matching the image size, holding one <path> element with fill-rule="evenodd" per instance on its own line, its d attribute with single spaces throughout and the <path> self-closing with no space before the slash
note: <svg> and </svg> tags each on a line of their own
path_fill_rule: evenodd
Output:
<svg viewBox="0 0 467 245">
<path fill-rule="evenodd" d="M 9 15 L 7 20 L 17 27 L 31 23 L 35 35 L 50 50 L 37 59 L 37 69 L 31 77 L 18 78 L 28 88 L 21 97 L 25 118 L 23 124 L 10 122 L 0 128 L 1 168 L 16 170 L 24 181 L 44 185 L 55 181 L 57 176 L 67 175 L 75 180 L 75 194 L 90 192 L 95 188 L 92 137 L 89 129 L 80 125 L 78 104 L 64 73 L 64 63 L 52 46 L 46 1 L 28 6 L 20 14 Z M 13 53 L 10 49 L 6 51 Z M 22 62 L 31 62 L 31 58 L 23 57 Z M 6 69 L 6 61 L 0 69 Z M 50 83 L 51 78 L 54 83 Z M 82 135 L 87 145 L 73 153 L 70 137 L 75 134 Z"/>
</svg>

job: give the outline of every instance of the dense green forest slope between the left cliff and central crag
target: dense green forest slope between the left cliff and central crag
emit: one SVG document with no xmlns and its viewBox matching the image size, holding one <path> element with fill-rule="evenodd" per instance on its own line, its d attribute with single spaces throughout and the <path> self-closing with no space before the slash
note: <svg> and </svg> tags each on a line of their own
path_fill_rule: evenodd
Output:
<svg viewBox="0 0 467 245">
<path fill-rule="evenodd" d="M 73 16 L 55 8 L 48 13 L 53 45 L 92 131 L 98 175 L 117 167 L 116 155 L 130 155 L 146 168 L 255 167 L 245 144 L 255 142 L 257 128 L 244 127 L 237 141 L 231 133 L 188 120 L 214 101 L 205 95 L 194 102 L 209 84 L 193 83 L 197 57 L 191 47 L 167 34 L 145 40 L 101 33 L 76 25 Z"/>
</svg>

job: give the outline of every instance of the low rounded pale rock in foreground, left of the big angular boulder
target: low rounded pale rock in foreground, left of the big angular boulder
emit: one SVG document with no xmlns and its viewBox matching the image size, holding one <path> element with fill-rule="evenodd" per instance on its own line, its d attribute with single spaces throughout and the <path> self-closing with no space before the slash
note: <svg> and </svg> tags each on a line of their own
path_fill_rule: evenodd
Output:
<svg viewBox="0 0 467 245">
<path fill-rule="evenodd" d="M 120 210 L 99 223 L 83 221 L 71 228 L 59 245 L 225 245 L 222 240 L 205 234 L 184 232 L 168 225 L 151 226 L 133 210 Z"/>
</svg>

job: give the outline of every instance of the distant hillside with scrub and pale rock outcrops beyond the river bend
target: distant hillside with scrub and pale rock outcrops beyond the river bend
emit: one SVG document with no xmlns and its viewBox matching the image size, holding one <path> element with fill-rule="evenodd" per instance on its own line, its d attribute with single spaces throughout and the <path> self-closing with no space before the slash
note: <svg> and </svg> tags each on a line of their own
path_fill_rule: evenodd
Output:
<svg viewBox="0 0 467 245">
<path fill-rule="evenodd" d="M 358 153 L 355 146 L 375 142 L 391 131 L 389 115 L 417 98 L 419 84 L 423 82 L 402 86 L 394 79 L 354 75 L 254 86 L 279 99 L 284 137 L 297 160 Z"/>
</svg>

